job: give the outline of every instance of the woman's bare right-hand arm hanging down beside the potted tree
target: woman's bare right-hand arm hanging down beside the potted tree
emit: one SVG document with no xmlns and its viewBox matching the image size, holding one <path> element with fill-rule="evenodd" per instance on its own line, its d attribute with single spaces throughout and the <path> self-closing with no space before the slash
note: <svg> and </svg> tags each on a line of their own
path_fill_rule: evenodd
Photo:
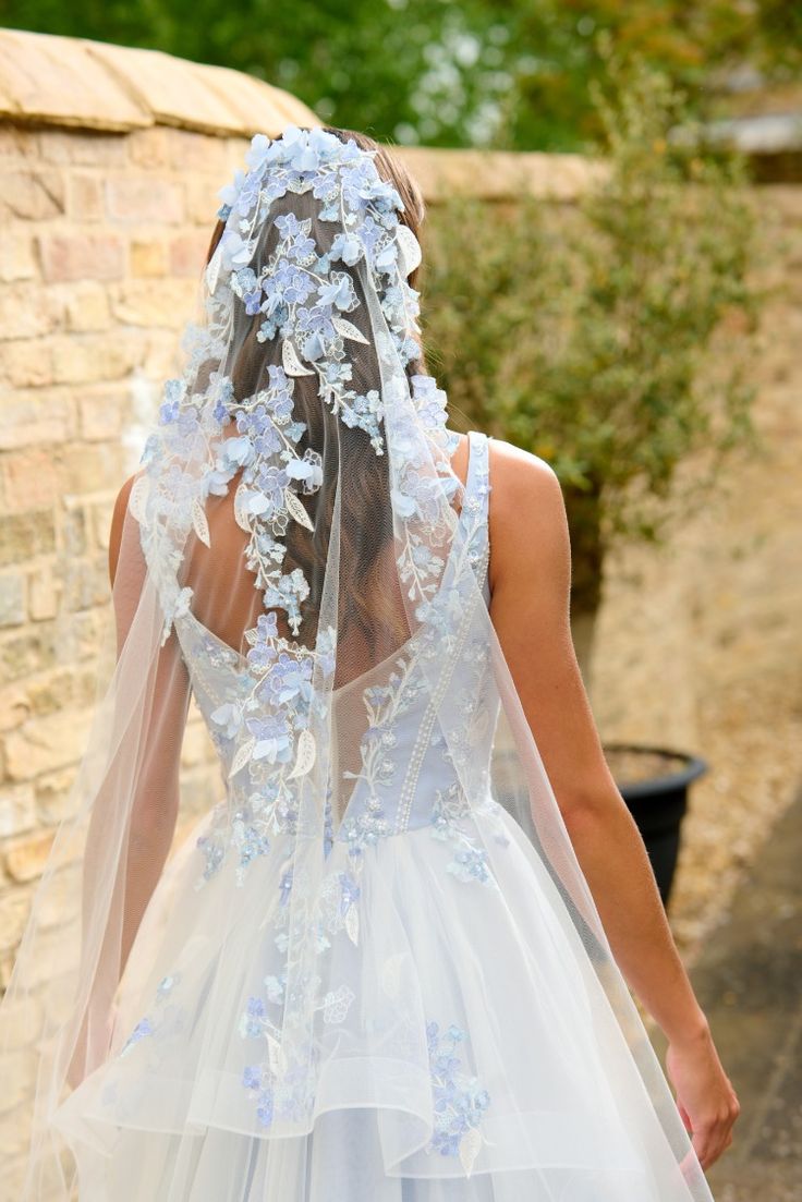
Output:
<svg viewBox="0 0 802 1202">
<path fill-rule="evenodd" d="M 679 958 L 640 832 L 612 779 L 571 639 L 571 557 L 559 481 L 491 442 L 491 617 L 571 843 L 630 987 L 670 1041 L 700 1160 L 727 1146 L 737 1101 Z M 689 1066 L 701 1070 L 693 1077 Z"/>
</svg>

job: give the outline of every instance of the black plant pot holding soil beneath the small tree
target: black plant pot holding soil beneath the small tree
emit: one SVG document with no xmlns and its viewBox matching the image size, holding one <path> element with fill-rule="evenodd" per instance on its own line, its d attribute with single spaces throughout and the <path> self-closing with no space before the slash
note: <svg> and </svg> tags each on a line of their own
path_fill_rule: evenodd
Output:
<svg viewBox="0 0 802 1202">
<path fill-rule="evenodd" d="M 688 786 L 707 772 L 707 763 L 684 751 L 628 743 L 607 743 L 605 754 L 607 752 L 616 784 L 646 844 L 665 906 L 669 904 L 677 867 L 679 828 L 688 808 Z M 618 779 L 616 772 L 616 757 L 628 764 L 622 779 Z M 638 761 L 646 773 L 641 769 L 631 770 Z"/>
</svg>

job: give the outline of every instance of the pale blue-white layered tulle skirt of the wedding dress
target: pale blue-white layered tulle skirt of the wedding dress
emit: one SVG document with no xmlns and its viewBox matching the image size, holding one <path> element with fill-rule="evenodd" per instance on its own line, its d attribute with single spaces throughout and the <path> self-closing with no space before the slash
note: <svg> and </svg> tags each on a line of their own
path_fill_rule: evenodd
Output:
<svg viewBox="0 0 802 1202">
<path fill-rule="evenodd" d="M 204 879 L 207 816 L 139 928 L 108 1060 L 54 1114 L 81 1202 L 700 1197 L 634 1008 L 613 1012 L 517 823 L 494 802 L 470 821 L 489 859 L 426 826 L 357 875 L 334 840 L 314 1077 L 272 1088 L 286 863 L 277 840 Z"/>
</svg>

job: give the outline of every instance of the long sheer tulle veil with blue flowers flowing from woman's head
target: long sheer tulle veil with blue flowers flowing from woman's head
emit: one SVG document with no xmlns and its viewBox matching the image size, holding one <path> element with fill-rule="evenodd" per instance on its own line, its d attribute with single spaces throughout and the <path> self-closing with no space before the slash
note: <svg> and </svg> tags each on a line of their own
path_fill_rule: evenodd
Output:
<svg viewBox="0 0 802 1202">
<path fill-rule="evenodd" d="M 71 1144 L 81 1124 L 88 1143 L 108 1148 L 108 1131 L 126 1123 L 121 1102 L 105 1125 L 81 1100 L 112 1060 L 127 1071 L 147 1034 L 143 996 L 154 950 L 168 938 L 174 864 L 190 857 L 197 930 L 185 939 L 182 971 L 203 963 L 197 996 L 207 1008 L 188 1019 L 170 1010 L 173 980 L 154 983 L 160 1022 L 194 1022 L 201 1054 L 194 1076 L 154 1090 L 154 1127 L 179 1144 L 210 1127 L 271 1141 L 310 1131 L 320 1108 L 346 1099 L 321 1014 L 328 1020 L 360 1004 L 354 987 L 332 980 L 332 929 L 347 926 L 352 956 L 364 930 L 356 908 L 332 893 L 341 881 L 332 881 L 329 853 L 349 829 L 361 783 L 369 799 L 351 846 L 354 894 L 372 841 L 387 837 L 382 773 L 393 738 L 364 700 L 411 671 L 410 760 L 436 742 L 463 811 L 500 804 L 523 833 L 542 899 L 533 923 L 558 950 L 582 1016 L 576 1040 L 588 1041 L 607 1117 L 618 1115 L 663 1188 L 648 1197 L 709 1200 L 491 623 L 480 553 L 461 520 L 457 436 L 445 393 L 420 358 L 418 292 L 409 280 L 421 249 L 374 160 L 349 137 L 289 127 L 275 139 L 255 137 L 245 168 L 221 194 L 225 230 L 183 339 L 183 371 L 165 385 L 125 507 L 114 621 L 71 816 L 58 829 L 2 1004 L 2 1079 L 32 1120 L 25 1202 L 75 1196 Z M 470 696 L 451 686 L 467 662 Z M 212 689 L 215 665 L 232 682 L 210 712 L 224 779 L 167 858 L 183 808 L 197 811 L 182 784 L 182 740 L 190 696 Z M 411 797 L 399 789 L 403 814 Z M 476 870 L 503 873 L 503 840 L 482 838 L 489 828 L 481 822 L 476 829 Z M 250 1129 L 226 1094 L 237 1031 L 206 1014 L 242 980 L 248 933 L 267 904 L 265 874 L 278 856 L 280 968 L 272 980 L 280 988 L 263 1024 L 263 1072 L 283 1088 L 271 1094 L 269 1124 L 262 1115 Z M 426 1031 L 406 1005 L 403 956 L 385 970 L 392 1005 L 370 1010 L 366 1001 L 373 1025 L 354 1061 L 372 1065 L 387 1171 L 400 1172 L 426 1114 L 417 1103 L 394 1106 L 388 1066 L 409 1065 L 411 1075 Z M 372 988 L 367 977 L 363 988 Z M 556 1014 L 554 1041 L 572 1055 L 574 1037 Z M 132 1106 L 125 1079 L 115 1088 Z M 522 1129 L 516 1155 L 523 1162 L 531 1152 L 536 1161 L 523 1143 Z M 510 1167 L 509 1147 L 476 1135 L 462 1168 Z"/>
</svg>

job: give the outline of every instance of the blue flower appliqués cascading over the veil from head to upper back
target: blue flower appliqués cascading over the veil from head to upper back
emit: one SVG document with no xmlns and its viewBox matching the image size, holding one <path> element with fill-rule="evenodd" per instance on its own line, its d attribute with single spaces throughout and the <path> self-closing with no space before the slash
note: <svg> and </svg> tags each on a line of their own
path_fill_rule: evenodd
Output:
<svg viewBox="0 0 802 1202">
<path fill-rule="evenodd" d="M 301 452 L 307 426 L 295 411 L 296 377 L 316 376 L 321 403 L 345 426 L 364 430 L 379 456 L 385 451 L 385 405 L 398 401 L 405 421 L 415 415 L 410 436 L 404 440 L 399 434 L 393 469 L 393 506 L 409 525 L 428 522 L 429 493 L 436 492 L 426 475 L 418 475 L 417 452 L 409 448 L 423 434 L 439 445 L 438 471 L 447 474 L 457 439 L 446 430 L 445 392 L 429 375 L 406 374 L 408 364 L 420 356 L 414 337 L 420 294 L 408 276 L 420 263 L 421 251 L 415 234 L 399 220 L 402 198 L 379 175 L 375 154 L 321 129 L 290 126 L 280 138 L 254 137 L 245 156 L 249 169 L 238 171 L 220 192 L 225 230 L 206 270 L 208 321 L 189 327 L 185 374 L 166 382 L 161 432 L 152 436 L 143 457 L 160 482 L 150 492 L 150 524 L 159 519 L 170 526 L 180 512 L 189 512 L 197 537 L 207 545 L 206 500 L 209 494 L 225 494 L 239 474 L 234 516 L 250 535 L 249 567 L 265 593 L 266 607 L 284 611 L 296 635 L 309 585 L 299 569 L 284 571 L 284 535 L 290 520 L 311 529 L 302 498 L 322 483 L 320 452 L 311 447 Z M 317 206 L 307 202 L 292 212 L 277 204 L 287 194 L 311 194 Z M 319 238 L 320 222 L 338 226 L 325 248 L 311 237 L 313 219 Z M 357 297 L 355 279 L 363 299 Z M 363 319 L 370 338 L 345 316 L 363 303 L 368 309 L 378 304 L 384 317 L 380 326 L 375 309 L 355 317 Z M 236 395 L 230 358 L 237 310 L 249 328 L 257 323 L 257 341 L 279 346 L 278 356 L 266 355 L 259 391 L 248 397 Z M 352 387 L 358 352 L 349 350 L 349 344 L 373 344 L 376 370 L 367 375 L 375 387 L 364 393 Z M 399 421 L 396 413 L 397 429 Z M 220 438 L 232 422 L 237 434 L 227 430 Z M 402 454 L 404 446 L 408 450 Z M 207 456 L 204 470 L 198 471 Z M 191 471 L 184 470 L 188 464 Z M 456 483 L 453 477 L 441 487 L 451 493 Z M 143 481 L 139 510 L 147 487 Z M 408 535 L 410 546 L 414 541 Z M 420 566 L 415 575 L 421 577 Z M 173 615 L 189 606 L 191 589 L 179 593 L 168 573 L 162 594 L 171 597 L 166 637 Z"/>
</svg>

